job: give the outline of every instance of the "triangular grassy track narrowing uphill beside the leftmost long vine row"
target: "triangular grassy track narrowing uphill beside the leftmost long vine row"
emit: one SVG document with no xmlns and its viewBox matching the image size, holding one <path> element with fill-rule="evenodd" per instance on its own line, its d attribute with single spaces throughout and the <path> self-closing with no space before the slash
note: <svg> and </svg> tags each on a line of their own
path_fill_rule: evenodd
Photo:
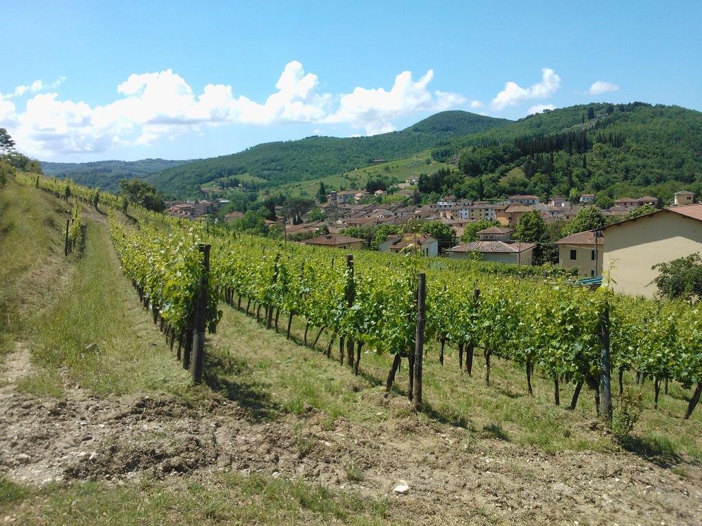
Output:
<svg viewBox="0 0 702 526">
<path fill-rule="evenodd" d="M 34 363 L 46 375 L 64 368 L 100 395 L 187 389 L 149 314 L 121 274 L 104 220 L 86 221 L 83 257 L 53 308 L 36 321 L 30 337 Z"/>
</svg>

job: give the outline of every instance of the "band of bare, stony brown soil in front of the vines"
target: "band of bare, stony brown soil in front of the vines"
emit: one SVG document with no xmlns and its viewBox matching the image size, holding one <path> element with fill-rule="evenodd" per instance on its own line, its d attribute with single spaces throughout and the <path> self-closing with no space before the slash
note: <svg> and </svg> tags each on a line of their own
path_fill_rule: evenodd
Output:
<svg viewBox="0 0 702 526">
<path fill-rule="evenodd" d="M 380 425 L 309 408 L 303 417 L 256 422 L 236 403 L 188 407 L 176 398 L 98 398 L 65 386 L 65 400 L 14 385 L 29 374 L 19 346 L 0 370 L 0 473 L 18 483 L 193 477 L 214 471 L 267 473 L 390 499 L 415 524 L 702 524 L 702 469 L 685 476 L 627 452 L 545 454 L 465 429 L 423 423 L 406 400 Z M 592 433 L 602 433 L 592 422 Z M 409 491 L 397 494 L 406 482 Z"/>
</svg>

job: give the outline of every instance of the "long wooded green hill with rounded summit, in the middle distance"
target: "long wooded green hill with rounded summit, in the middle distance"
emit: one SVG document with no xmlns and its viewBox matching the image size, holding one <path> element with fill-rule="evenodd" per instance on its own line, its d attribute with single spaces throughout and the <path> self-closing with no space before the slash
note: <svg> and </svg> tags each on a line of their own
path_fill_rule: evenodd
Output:
<svg viewBox="0 0 702 526">
<path fill-rule="evenodd" d="M 237 154 L 202 159 L 149 177 L 164 194 L 194 195 L 202 184 L 247 174 L 263 186 L 318 179 L 367 166 L 376 159 L 404 159 L 437 141 L 510 123 L 469 112 L 441 112 L 402 131 L 371 137 L 307 137 L 258 144 Z"/>
</svg>

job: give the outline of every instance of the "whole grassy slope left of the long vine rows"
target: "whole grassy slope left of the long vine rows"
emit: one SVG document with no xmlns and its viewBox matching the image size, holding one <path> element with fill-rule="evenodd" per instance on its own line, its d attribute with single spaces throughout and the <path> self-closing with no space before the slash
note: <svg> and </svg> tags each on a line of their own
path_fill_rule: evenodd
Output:
<svg viewBox="0 0 702 526">
<path fill-rule="evenodd" d="M 84 208 L 82 250 L 65 258 L 59 226 L 67 217 L 65 203 L 14 182 L 0 191 L 0 203 L 8 202 L 0 241 L 15 250 L 0 277 L 3 292 L 13 291 L 4 298 L 4 318 L 18 323 L 9 334 L 3 331 L 5 348 L 16 339 L 40 365 L 22 381 L 24 388 L 57 394 L 67 375 L 100 394 L 182 392 L 187 375 L 173 367 L 150 316 L 135 302 L 105 217 Z"/>
</svg>

